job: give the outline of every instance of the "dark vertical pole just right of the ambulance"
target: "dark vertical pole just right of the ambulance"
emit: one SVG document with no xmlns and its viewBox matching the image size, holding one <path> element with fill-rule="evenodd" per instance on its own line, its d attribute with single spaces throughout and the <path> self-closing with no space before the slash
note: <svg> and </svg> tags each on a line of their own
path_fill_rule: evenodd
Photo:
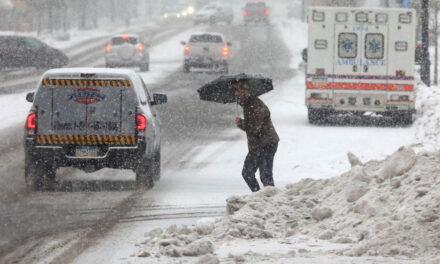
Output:
<svg viewBox="0 0 440 264">
<path fill-rule="evenodd" d="M 429 0 L 422 0 L 422 65 L 421 79 L 431 86 L 431 62 L 429 60 Z"/>
</svg>

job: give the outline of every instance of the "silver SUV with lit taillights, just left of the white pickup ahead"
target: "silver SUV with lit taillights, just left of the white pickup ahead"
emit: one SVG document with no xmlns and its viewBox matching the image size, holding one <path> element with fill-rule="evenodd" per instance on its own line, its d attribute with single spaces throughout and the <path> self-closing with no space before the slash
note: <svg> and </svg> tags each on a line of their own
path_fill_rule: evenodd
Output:
<svg viewBox="0 0 440 264">
<path fill-rule="evenodd" d="M 141 71 L 149 71 L 150 54 L 147 47 L 139 35 L 115 35 L 105 46 L 105 66 L 139 67 Z"/>
</svg>

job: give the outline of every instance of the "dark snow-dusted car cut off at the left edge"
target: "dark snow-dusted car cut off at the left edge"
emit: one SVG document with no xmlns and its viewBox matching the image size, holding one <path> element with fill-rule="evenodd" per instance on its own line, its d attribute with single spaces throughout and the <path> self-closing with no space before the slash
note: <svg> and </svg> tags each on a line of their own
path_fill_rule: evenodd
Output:
<svg viewBox="0 0 440 264">
<path fill-rule="evenodd" d="M 34 37 L 0 35 L 0 69 L 8 67 L 59 68 L 67 65 L 64 52 Z"/>
</svg>

